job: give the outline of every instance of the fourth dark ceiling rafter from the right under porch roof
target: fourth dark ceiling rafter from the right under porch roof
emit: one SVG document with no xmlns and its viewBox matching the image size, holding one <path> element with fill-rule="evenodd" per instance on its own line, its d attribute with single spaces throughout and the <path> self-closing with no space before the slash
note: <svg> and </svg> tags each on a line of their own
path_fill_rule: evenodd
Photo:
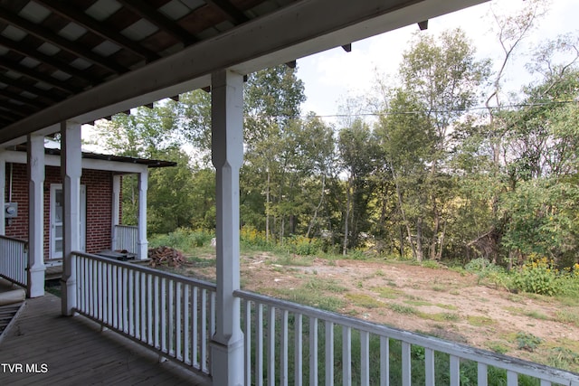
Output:
<svg viewBox="0 0 579 386">
<path fill-rule="evenodd" d="M 60 47 L 62 50 L 71 52 L 75 56 L 80 56 L 81 58 L 97 64 L 109 71 L 113 71 L 115 73 L 123 73 L 128 71 L 128 69 L 124 68 L 123 66 L 109 61 L 94 52 L 90 52 L 81 44 L 77 42 L 71 42 L 56 33 L 52 33 L 50 29 L 45 28 L 42 25 L 34 24 L 24 19 L 24 17 L 13 14 L 2 6 L 0 6 L 0 20 L 4 20 L 8 24 L 13 24 L 21 30 L 24 30 L 26 33 L 30 33 L 43 40 L 44 42 L 50 42 L 53 45 Z"/>
</svg>

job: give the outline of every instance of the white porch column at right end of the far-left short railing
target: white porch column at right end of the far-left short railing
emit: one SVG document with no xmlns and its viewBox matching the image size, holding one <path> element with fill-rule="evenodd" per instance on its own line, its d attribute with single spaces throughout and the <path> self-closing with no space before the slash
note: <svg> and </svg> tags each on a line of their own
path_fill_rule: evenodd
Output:
<svg viewBox="0 0 579 386">
<path fill-rule="evenodd" d="M 44 295 L 44 137 L 28 138 L 28 297 Z M 3 206 L 4 211 L 4 206 Z"/>
</svg>

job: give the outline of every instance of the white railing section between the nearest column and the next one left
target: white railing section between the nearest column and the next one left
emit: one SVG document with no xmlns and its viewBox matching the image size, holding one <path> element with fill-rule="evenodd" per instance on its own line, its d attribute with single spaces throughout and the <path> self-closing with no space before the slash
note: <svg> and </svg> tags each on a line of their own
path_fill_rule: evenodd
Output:
<svg viewBox="0 0 579 386">
<path fill-rule="evenodd" d="M 75 252 L 75 311 L 195 372 L 211 374 L 214 284 Z"/>
</svg>

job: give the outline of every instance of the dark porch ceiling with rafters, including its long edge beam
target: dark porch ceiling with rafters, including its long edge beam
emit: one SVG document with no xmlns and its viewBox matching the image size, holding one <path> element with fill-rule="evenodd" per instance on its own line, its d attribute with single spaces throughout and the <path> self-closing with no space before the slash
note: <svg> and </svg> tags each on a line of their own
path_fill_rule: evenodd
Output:
<svg viewBox="0 0 579 386">
<path fill-rule="evenodd" d="M 0 0 L 0 144 L 487 0 Z"/>
</svg>

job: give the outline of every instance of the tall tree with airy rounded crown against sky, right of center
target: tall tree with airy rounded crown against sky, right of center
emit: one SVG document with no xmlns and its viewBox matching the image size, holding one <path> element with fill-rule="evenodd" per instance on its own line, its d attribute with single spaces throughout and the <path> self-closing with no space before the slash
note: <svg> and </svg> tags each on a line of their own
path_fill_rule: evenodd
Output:
<svg viewBox="0 0 579 386">
<path fill-rule="evenodd" d="M 455 194 L 452 179 L 447 173 L 450 159 L 451 127 L 459 122 L 464 111 L 473 107 L 478 99 L 477 90 L 489 75 L 488 61 L 477 61 L 475 49 L 460 29 L 441 33 L 438 39 L 419 33 L 414 35 L 411 47 L 404 52 L 400 78 L 405 92 L 412 93 L 415 107 L 424 111 L 431 130 L 432 155 L 430 171 L 425 177 L 426 199 L 420 202 L 426 218 L 418 218 L 420 235 L 428 243 L 430 259 L 441 259 L 447 224 L 450 221 L 449 204 Z M 417 188 L 419 188 L 417 186 Z M 426 233 L 428 229 L 428 233 Z M 420 251 L 417 251 L 420 258 Z"/>
</svg>

